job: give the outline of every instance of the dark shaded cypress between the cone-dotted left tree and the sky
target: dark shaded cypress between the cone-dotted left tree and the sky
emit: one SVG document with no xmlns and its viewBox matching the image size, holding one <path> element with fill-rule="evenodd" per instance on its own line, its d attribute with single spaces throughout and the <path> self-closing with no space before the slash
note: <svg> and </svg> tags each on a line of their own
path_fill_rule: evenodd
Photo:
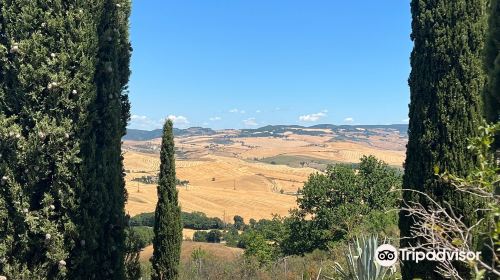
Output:
<svg viewBox="0 0 500 280">
<path fill-rule="evenodd" d="M 125 277 L 125 201 L 121 138 L 130 105 L 128 18 L 130 2 L 103 0 L 95 11 L 98 50 L 93 74 L 96 98 L 82 145 L 85 186 L 80 190 L 79 232 L 85 242 L 73 251 L 73 279 Z"/>
</svg>

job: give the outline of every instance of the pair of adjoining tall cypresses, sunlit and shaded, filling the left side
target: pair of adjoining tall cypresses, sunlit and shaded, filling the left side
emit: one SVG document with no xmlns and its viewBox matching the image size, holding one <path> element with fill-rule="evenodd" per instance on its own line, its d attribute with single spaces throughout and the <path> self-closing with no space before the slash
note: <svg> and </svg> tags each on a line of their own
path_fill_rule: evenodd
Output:
<svg viewBox="0 0 500 280">
<path fill-rule="evenodd" d="M 124 279 L 128 0 L 0 1 L 0 275 Z"/>
</svg>

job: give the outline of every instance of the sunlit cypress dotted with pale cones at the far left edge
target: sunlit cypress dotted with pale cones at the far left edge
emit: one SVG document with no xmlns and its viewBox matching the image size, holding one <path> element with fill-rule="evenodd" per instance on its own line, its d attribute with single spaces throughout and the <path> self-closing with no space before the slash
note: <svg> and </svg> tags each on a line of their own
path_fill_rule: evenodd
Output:
<svg viewBox="0 0 500 280">
<path fill-rule="evenodd" d="M 0 1 L 0 275 L 65 279 L 95 88 L 90 1 Z"/>
</svg>

